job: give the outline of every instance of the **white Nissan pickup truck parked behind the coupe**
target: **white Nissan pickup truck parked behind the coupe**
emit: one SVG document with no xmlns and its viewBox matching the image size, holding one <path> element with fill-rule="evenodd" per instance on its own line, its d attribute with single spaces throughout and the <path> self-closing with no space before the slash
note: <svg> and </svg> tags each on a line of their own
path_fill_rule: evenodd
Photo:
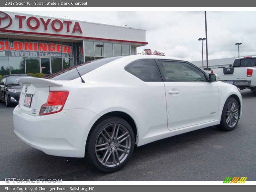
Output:
<svg viewBox="0 0 256 192">
<path fill-rule="evenodd" d="M 219 81 L 233 84 L 240 90 L 251 89 L 256 96 L 256 56 L 236 58 L 232 67 L 213 68 L 211 72 L 218 74 Z"/>
</svg>

